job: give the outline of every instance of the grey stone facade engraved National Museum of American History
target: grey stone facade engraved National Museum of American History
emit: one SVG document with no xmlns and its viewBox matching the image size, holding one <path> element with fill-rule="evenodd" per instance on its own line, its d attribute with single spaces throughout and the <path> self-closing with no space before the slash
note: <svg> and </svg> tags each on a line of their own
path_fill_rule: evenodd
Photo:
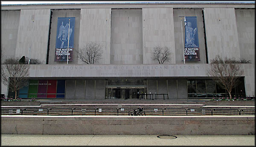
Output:
<svg viewBox="0 0 256 147">
<path fill-rule="evenodd" d="M 183 64 L 185 16 L 197 17 L 200 61 Z M 75 17 L 69 65 L 54 61 L 58 17 Z M 24 55 L 41 60 L 42 65 L 30 65 L 30 78 L 65 79 L 66 99 L 104 99 L 109 78 L 146 79 L 148 93 L 187 99 L 186 80 L 209 79 L 209 63 L 218 54 L 252 62 L 242 65 L 241 76 L 246 95 L 255 96 L 252 3 L 2 5 L 1 22 L 1 61 Z M 87 42 L 102 45 L 95 65 L 78 57 Z M 151 59 L 156 45 L 170 48 L 169 62 L 158 65 Z M 8 94 L 2 83 L 1 93 Z"/>
</svg>

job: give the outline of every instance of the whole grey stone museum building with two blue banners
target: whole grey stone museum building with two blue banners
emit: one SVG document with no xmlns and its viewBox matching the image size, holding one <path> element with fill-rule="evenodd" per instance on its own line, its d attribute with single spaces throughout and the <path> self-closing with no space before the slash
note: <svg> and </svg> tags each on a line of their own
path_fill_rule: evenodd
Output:
<svg viewBox="0 0 256 147">
<path fill-rule="evenodd" d="M 94 64 L 79 58 L 88 42 L 102 46 Z M 157 46 L 169 61 L 152 59 Z M 251 61 L 232 95 L 255 96 L 255 3 L 1 5 L 1 62 L 42 62 L 29 65 L 20 98 L 226 97 L 207 74 L 216 55 Z M 13 95 L 2 82 L 1 93 Z"/>
</svg>

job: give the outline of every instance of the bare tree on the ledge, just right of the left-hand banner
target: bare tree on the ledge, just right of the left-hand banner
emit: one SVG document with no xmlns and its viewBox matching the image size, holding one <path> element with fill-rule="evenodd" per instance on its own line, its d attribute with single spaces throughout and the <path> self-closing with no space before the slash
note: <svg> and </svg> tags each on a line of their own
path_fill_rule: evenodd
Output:
<svg viewBox="0 0 256 147">
<path fill-rule="evenodd" d="M 102 57 L 102 45 L 97 42 L 88 42 L 79 48 L 78 57 L 87 64 L 94 64 Z"/>
</svg>

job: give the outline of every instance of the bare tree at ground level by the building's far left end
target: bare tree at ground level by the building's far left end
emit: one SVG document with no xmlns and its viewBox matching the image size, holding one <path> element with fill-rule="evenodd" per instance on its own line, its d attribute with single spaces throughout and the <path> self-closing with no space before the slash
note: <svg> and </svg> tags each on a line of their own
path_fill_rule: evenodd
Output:
<svg viewBox="0 0 256 147">
<path fill-rule="evenodd" d="M 1 79 L 4 85 L 11 88 L 15 92 L 15 99 L 17 98 L 17 91 L 26 83 L 27 76 L 29 76 L 29 65 L 20 65 L 15 59 L 9 59 L 9 64 L 4 64 L 1 67 Z"/>
</svg>

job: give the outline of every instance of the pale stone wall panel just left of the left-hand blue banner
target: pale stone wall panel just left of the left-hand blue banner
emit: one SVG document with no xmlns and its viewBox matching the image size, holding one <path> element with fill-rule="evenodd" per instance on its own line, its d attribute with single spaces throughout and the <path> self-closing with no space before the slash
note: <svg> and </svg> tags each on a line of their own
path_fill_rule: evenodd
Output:
<svg viewBox="0 0 256 147">
<path fill-rule="evenodd" d="M 31 54 L 31 58 L 46 64 L 49 24 L 50 9 L 21 10 L 15 57 Z"/>
</svg>

